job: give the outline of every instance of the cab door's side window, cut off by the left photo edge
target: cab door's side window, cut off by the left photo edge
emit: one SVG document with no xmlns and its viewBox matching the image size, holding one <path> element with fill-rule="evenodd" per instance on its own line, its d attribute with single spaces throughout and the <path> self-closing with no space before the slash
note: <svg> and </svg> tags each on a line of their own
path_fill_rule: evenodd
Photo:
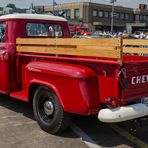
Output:
<svg viewBox="0 0 148 148">
<path fill-rule="evenodd" d="M 6 23 L 0 23 L 0 43 L 6 40 Z"/>
</svg>

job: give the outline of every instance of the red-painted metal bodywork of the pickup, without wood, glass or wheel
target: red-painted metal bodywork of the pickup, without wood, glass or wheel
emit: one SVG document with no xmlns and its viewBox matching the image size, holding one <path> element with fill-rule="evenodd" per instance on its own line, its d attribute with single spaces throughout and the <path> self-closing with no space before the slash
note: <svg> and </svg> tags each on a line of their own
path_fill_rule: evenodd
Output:
<svg viewBox="0 0 148 148">
<path fill-rule="evenodd" d="M 6 41 L 0 43 L 0 92 L 28 102 L 34 84 L 51 88 L 63 109 L 76 114 L 96 114 L 111 97 L 120 105 L 148 96 L 148 83 L 131 84 L 133 76 L 148 75 L 148 58 L 125 56 L 128 86 L 119 84 L 120 63 L 115 59 L 68 57 L 16 53 L 16 38 L 27 38 L 27 22 L 57 23 L 56 21 L 7 19 Z M 66 22 L 59 22 L 64 37 L 70 33 Z M 2 55 L 6 51 L 5 55 Z M 123 78 L 123 75 L 122 75 Z M 122 79 L 123 82 L 124 79 Z M 32 92 L 31 92 L 32 93 Z"/>
</svg>

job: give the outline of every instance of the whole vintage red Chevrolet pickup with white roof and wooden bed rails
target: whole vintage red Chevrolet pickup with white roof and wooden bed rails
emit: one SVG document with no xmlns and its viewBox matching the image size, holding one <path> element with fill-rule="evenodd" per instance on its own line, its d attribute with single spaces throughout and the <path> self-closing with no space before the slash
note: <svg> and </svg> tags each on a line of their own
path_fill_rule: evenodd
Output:
<svg viewBox="0 0 148 148">
<path fill-rule="evenodd" d="M 148 40 L 70 38 L 67 20 L 0 17 L 0 93 L 32 102 L 40 127 L 66 129 L 71 114 L 102 122 L 148 116 Z"/>
</svg>

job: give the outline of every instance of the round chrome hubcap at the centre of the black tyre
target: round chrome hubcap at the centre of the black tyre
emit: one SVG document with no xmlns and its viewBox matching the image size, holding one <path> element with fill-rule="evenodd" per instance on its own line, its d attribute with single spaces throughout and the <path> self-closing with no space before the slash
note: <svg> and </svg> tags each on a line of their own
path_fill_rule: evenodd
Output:
<svg viewBox="0 0 148 148">
<path fill-rule="evenodd" d="M 53 114 L 54 112 L 54 106 L 53 106 L 53 103 L 49 100 L 47 100 L 45 103 L 44 103 L 44 112 L 47 116 L 50 116 Z"/>
</svg>

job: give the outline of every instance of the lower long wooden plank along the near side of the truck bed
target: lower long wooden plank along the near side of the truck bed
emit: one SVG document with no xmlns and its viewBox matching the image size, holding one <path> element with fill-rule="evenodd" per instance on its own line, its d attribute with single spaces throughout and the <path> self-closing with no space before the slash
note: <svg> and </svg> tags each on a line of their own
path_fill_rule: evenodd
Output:
<svg viewBox="0 0 148 148">
<path fill-rule="evenodd" d="M 106 58 L 120 58 L 120 50 L 104 50 L 86 49 L 79 46 L 78 48 L 53 48 L 50 46 L 17 46 L 18 52 L 31 52 L 55 55 L 71 55 L 71 56 L 88 56 L 88 57 L 106 57 Z"/>
</svg>

